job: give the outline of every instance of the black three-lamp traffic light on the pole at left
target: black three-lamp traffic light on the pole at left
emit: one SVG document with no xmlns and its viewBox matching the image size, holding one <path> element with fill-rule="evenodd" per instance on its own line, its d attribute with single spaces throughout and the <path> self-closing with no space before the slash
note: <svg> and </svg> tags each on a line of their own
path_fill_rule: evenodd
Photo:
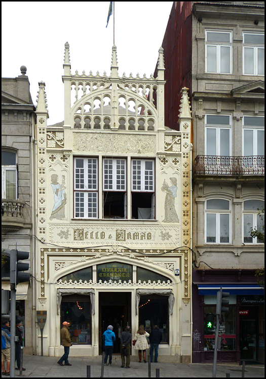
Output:
<svg viewBox="0 0 266 379">
<path fill-rule="evenodd" d="M 29 264 L 22 261 L 28 259 L 28 251 L 11 250 L 10 251 L 10 285 L 13 287 L 11 289 L 16 289 L 19 282 L 29 281 L 30 274 L 27 271 L 29 269 Z"/>
</svg>

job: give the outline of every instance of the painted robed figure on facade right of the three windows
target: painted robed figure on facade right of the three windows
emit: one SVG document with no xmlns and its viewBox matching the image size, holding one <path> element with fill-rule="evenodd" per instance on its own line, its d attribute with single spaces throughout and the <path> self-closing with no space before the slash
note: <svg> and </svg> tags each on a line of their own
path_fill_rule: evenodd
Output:
<svg viewBox="0 0 266 379">
<path fill-rule="evenodd" d="M 179 218 L 175 210 L 175 198 L 177 193 L 177 179 L 170 178 L 171 186 L 164 180 L 161 190 L 166 193 L 164 203 L 164 220 L 163 223 L 179 223 Z"/>
</svg>

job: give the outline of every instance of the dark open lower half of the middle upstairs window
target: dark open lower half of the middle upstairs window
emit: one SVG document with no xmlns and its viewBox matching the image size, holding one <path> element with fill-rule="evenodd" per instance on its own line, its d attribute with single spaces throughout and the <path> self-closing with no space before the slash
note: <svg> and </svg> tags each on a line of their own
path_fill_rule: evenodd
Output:
<svg viewBox="0 0 266 379">
<path fill-rule="evenodd" d="M 125 202 L 124 192 L 103 192 L 103 217 L 126 218 Z"/>
</svg>

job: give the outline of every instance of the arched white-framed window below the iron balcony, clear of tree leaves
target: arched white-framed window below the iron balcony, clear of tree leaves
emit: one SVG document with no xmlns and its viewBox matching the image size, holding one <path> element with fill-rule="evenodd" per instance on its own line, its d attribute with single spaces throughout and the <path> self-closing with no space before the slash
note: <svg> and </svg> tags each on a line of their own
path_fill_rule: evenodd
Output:
<svg viewBox="0 0 266 379">
<path fill-rule="evenodd" d="M 210 199 L 205 210 L 206 243 L 231 242 L 231 205 L 229 200 Z"/>
</svg>

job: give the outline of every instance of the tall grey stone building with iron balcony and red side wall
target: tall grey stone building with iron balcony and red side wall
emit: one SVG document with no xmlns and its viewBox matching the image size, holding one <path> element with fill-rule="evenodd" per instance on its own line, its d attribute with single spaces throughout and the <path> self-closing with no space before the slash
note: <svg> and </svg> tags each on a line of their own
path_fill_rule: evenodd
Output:
<svg viewBox="0 0 266 379">
<path fill-rule="evenodd" d="M 165 124 L 193 122 L 193 362 L 213 360 L 216 293 L 230 292 L 220 362 L 263 362 L 264 2 L 174 2 L 162 44 Z M 212 325 L 213 325 L 212 322 Z"/>
</svg>

